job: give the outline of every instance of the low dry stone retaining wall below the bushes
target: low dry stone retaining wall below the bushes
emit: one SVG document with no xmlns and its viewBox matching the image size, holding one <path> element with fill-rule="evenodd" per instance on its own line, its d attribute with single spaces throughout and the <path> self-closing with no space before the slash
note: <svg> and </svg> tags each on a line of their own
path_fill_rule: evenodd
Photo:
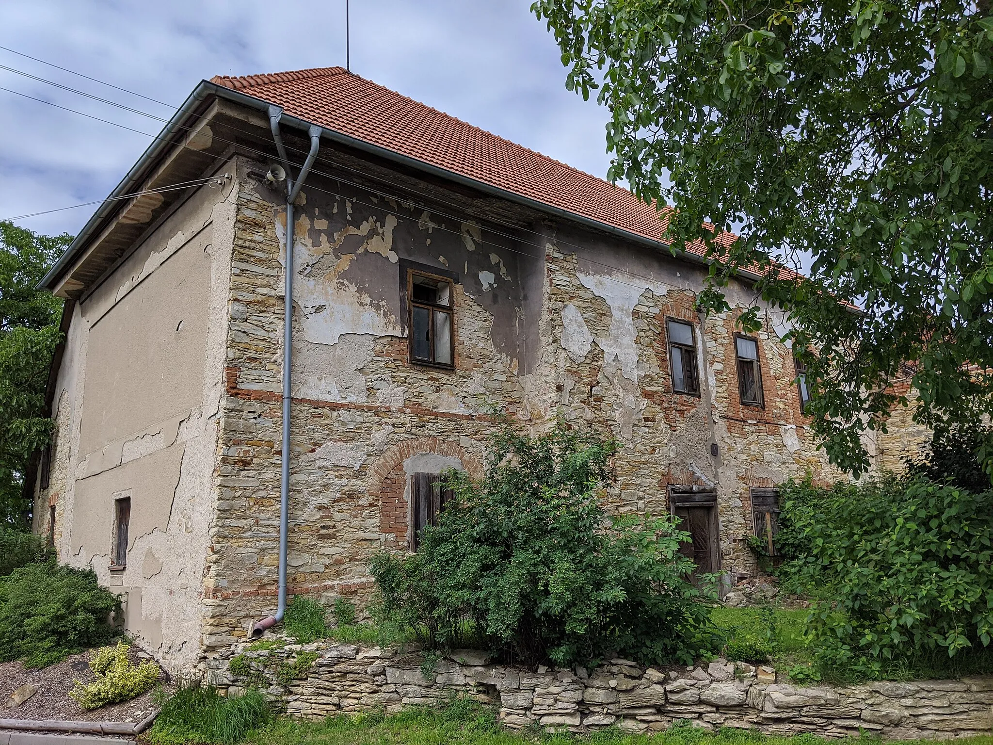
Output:
<svg viewBox="0 0 993 745">
<path fill-rule="evenodd" d="M 235 658 L 233 667 L 241 674 L 230 671 Z M 771 668 L 724 660 L 671 670 L 612 660 L 593 671 L 529 671 L 491 665 L 479 652 L 458 651 L 428 676 L 422 663 L 416 652 L 289 644 L 273 650 L 235 648 L 209 660 L 205 672 L 209 682 L 232 693 L 261 685 L 290 716 L 303 719 L 396 711 L 470 695 L 497 706 L 500 721 L 512 728 L 584 731 L 615 725 L 649 732 L 688 720 L 708 729 L 827 737 L 868 731 L 900 739 L 989 734 L 993 728 L 993 677 L 835 688 L 777 682 Z M 288 680 L 294 666 L 297 677 Z"/>
</svg>

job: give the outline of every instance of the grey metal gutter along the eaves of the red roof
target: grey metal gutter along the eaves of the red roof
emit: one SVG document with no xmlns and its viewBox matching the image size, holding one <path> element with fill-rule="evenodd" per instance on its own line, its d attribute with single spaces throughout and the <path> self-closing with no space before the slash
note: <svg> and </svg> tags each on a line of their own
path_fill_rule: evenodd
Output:
<svg viewBox="0 0 993 745">
<path fill-rule="evenodd" d="M 169 120 L 169 123 L 165 126 L 155 142 L 153 142 L 148 149 L 142 154 L 138 162 L 132 167 L 128 172 L 128 175 L 124 177 L 124 180 L 114 189 L 109 195 L 108 199 L 119 197 L 122 194 L 127 194 L 129 191 L 133 191 L 136 184 L 140 183 L 140 177 L 145 173 L 148 166 L 155 160 L 157 156 L 164 149 L 172 145 L 172 137 L 178 131 L 182 129 L 183 120 L 190 115 L 194 108 L 208 96 L 215 95 L 218 98 L 223 98 L 224 100 L 231 101 L 233 103 L 239 103 L 248 108 L 254 108 L 264 115 L 268 116 L 270 101 L 264 98 L 256 98 L 253 95 L 248 95 L 247 93 L 242 93 L 239 90 L 234 90 L 233 88 L 226 87 L 224 85 L 218 85 L 210 80 L 201 80 L 197 88 L 190 94 L 190 96 L 184 101 L 183 105 L 177 110 L 173 117 Z M 569 212 L 568 210 L 563 210 L 559 207 L 554 207 L 547 203 L 541 202 L 539 200 L 532 199 L 530 197 L 525 197 L 523 195 L 517 194 L 516 192 L 511 192 L 506 189 L 494 186 L 485 181 L 480 181 L 478 179 L 471 178 L 469 176 L 464 176 L 455 171 L 450 171 L 448 169 L 442 168 L 441 166 L 436 166 L 432 163 L 428 163 L 417 158 L 412 158 L 408 155 L 403 155 L 395 150 L 390 150 L 389 148 L 382 147 L 380 145 L 372 144 L 365 140 L 353 137 L 351 135 L 339 132 L 335 129 L 329 129 L 321 125 L 317 125 L 314 122 L 307 121 L 306 119 L 301 119 L 298 116 L 292 114 L 283 113 L 280 117 L 280 122 L 286 124 L 287 126 L 293 127 L 294 129 L 299 129 L 304 132 L 309 132 L 312 127 L 320 127 L 321 135 L 327 137 L 333 142 L 337 142 L 341 145 L 354 148 L 355 150 L 360 150 L 362 152 L 373 155 L 377 158 L 382 158 L 383 160 L 396 163 L 398 165 L 405 166 L 407 168 L 412 168 L 423 173 L 431 174 L 432 176 L 437 176 L 448 181 L 453 181 L 462 186 L 475 189 L 477 191 L 489 194 L 491 196 L 497 197 L 499 199 L 506 200 L 508 202 L 513 202 L 515 204 L 521 205 L 522 207 L 527 207 L 536 212 L 545 213 L 547 215 L 552 215 L 561 220 L 568 221 L 570 223 L 581 224 L 585 227 L 589 227 L 594 230 L 599 230 L 600 232 L 606 232 L 611 235 L 616 235 L 628 241 L 638 243 L 650 248 L 668 247 L 665 243 L 660 240 L 655 240 L 644 235 L 640 235 L 637 232 L 632 232 L 631 230 L 626 230 L 623 227 L 618 227 L 617 225 L 612 225 L 608 223 L 601 223 L 593 218 L 588 218 L 577 213 Z M 86 245 L 88 240 L 95 233 L 99 224 L 101 224 L 106 218 L 110 217 L 113 212 L 121 207 L 118 203 L 104 203 L 89 219 L 79 234 L 76 235 L 75 239 L 72 241 L 70 247 L 66 252 L 59 258 L 48 274 L 45 275 L 39 284 L 40 287 L 46 289 L 52 289 L 52 284 L 56 279 L 71 266 L 71 263 L 75 256 L 81 251 L 82 247 Z M 699 256 L 695 253 L 690 253 L 689 251 L 676 251 L 676 256 L 683 258 L 687 261 L 693 263 L 702 264 L 704 266 L 709 266 L 710 261 Z M 761 279 L 761 275 L 755 274 L 744 269 L 739 269 L 738 274 L 741 277 L 750 279 L 753 281 Z"/>
</svg>

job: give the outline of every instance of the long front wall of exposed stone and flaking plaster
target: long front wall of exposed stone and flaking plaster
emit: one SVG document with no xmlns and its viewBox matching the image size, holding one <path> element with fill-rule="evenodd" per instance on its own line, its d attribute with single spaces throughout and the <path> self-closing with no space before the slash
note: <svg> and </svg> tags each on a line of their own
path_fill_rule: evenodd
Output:
<svg viewBox="0 0 993 745">
<path fill-rule="evenodd" d="M 276 595 L 285 212 L 249 167 L 232 256 L 209 649 L 243 638 Z M 766 406 L 738 401 L 734 320 L 755 302 L 744 286 L 731 288 L 730 312 L 704 321 L 700 268 L 663 251 L 554 224 L 459 220 L 451 207 L 436 214 L 319 177 L 296 214 L 291 594 L 361 606 L 368 556 L 404 544 L 411 459 L 479 473 L 495 404 L 536 428 L 563 415 L 612 432 L 622 446 L 612 509 L 666 513 L 668 485 L 715 488 L 729 581 L 756 569 L 745 546 L 751 487 L 807 470 L 839 476 L 799 413 L 772 311 L 759 335 Z M 408 262 L 455 277 L 454 371 L 408 362 Z M 698 397 L 671 390 L 667 316 L 703 333 Z"/>
</svg>

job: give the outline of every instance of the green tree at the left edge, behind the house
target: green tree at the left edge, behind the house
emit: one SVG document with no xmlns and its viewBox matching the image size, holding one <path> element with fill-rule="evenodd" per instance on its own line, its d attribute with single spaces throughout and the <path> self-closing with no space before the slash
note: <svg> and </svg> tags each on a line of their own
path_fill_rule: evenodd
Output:
<svg viewBox="0 0 993 745">
<path fill-rule="evenodd" d="M 45 388 L 63 301 L 37 285 L 71 239 L 0 222 L 0 524 L 27 526 L 25 471 L 49 441 Z"/>
</svg>

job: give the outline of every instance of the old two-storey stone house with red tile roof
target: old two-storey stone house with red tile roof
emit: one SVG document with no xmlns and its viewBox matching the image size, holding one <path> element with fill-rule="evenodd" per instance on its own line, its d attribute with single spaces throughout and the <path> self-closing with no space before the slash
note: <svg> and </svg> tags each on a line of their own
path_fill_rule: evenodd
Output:
<svg viewBox="0 0 993 745">
<path fill-rule="evenodd" d="M 289 224 L 289 594 L 361 606 L 432 475 L 481 472 L 495 406 L 613 433 L 612 509 L 681 516 L 725 586 L 778 484 L 840 477 L 781 314 L 738 333 L 747 276 L 697 313 L 703 259 L 630 192 L 340 68 L 215 77 L 44 282 L 66 340 L 34 527 L 167 664 L 277 603 L 287 182 L 315 151 Z"/>
</svg>

